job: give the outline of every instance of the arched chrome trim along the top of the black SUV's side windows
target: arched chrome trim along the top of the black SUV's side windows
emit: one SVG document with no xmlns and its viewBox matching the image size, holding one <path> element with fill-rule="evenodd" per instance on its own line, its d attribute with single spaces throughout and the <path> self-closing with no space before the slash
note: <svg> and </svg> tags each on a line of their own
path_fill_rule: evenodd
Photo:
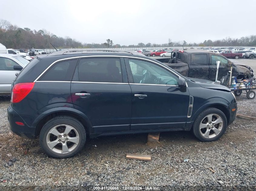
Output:
<svg viewBox="0 0 256 191">
<path fill-rule="evenodd" d="M 64 58 L 64 59 L 59 59 L 59 60 L 56 60 L 54 62 L 52 62 L 52 64 L 50 64 L 35 80 L 34 82 L 36 82 L 49 68 L 51 68 L 52 65 L 54 65 L 56 62 L 59 62 L 59 61 L 63 61 L 63 60 L 69 60 L 69 59 L 76 59 L 76 58 L 89 58 L 89 57 L 121 57 L 121 58 L 135 58 L 135 59 L 142 59 L 142 60 L 147 60 L 149 62 L 154 62 L 155 64 L 157 65 L 160 65 L 164 68 L 166 68 L 168 71 L 170 71 L 172 74 L 178 76 L 178 77 L 181 77 L 180 75 L 174 73 L 173 71 L 171 71 L 169 68 L 167 68 L 166 66 L 164 65 L 161 65 L 159 64 L 158 62 L 155 62 L 155 61 L 152 61 L 152 60 L 149 60 L 149 59 L 146 59 L 146 58 L 140 58 L 140 57 L 134 57 L 134 56 L 114 56 L 114 55 L 91 55 L 91 56 L 75 56 L 75 57 L 69 57 L 69 58 Z M 104 82 L 103 82 L 104 83 Z"/>
</svg>

